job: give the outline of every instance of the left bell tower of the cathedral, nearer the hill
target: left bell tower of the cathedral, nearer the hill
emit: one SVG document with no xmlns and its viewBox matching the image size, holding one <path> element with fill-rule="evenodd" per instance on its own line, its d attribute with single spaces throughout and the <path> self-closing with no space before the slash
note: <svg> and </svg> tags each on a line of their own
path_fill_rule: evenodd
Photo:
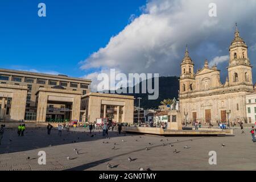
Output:
<svg viewBox="0 0 256 182">
<path fill-rule="evenodd" d="M 195 90 L 194 63 L 189 57 L 188 46 L 185 51 L 185 56 L 181 62 L 180 76 L 180 94 L 185 94 Z"/>
</svg>

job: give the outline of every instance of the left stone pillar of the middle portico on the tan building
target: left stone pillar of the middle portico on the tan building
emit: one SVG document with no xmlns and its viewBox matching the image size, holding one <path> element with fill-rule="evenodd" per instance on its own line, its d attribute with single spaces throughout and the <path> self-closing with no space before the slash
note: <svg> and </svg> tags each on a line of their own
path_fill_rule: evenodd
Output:
<svg viewBox="0 0 256 182">
<path fill-rule="evenodd" d="M 38 111 L 36 113 L 36 121 L 38 122 L 46 122 L 47 101 L 48 101 L 47 95 L 43 93 L 39 93 Z"/>
</svg>

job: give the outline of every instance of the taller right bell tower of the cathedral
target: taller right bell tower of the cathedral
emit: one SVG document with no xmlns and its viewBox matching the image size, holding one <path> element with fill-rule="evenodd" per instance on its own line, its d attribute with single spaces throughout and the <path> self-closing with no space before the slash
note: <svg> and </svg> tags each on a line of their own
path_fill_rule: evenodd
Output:
<svg viewBox="0 0 256 182">
<path fill-rule="evenodd" d="M 247 45 L 240 37 L 236 24 L 234 40 L 229 47 L 229 86 L 234 85 L 253 85 L 251 74 L 251 64 L 247 55 Z"/>
</svg>

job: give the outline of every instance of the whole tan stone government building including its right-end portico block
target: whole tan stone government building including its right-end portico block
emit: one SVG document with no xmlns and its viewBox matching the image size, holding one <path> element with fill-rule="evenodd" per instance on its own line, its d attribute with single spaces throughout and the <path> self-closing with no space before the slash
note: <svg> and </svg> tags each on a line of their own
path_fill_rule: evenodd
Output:
<svg viewBox="0 0 256 182">
<path fill-rule="evenodd" d="M 133 96 L 90 92 L 90 80 L 0 69 L 0 119 L 133 123 Z"/>
</svg>

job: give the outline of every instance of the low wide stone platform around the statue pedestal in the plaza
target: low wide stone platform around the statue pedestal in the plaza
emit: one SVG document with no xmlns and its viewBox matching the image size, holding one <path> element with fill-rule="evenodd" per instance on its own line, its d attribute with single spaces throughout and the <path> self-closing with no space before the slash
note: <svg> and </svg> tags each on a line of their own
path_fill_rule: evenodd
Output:
<svg viewBox="0 0 256 182">
<path fill-rule="evenodd" d="M 152 134 L 161 136 L 227 136 L 233 135 L 233 130 L 199 129 L 199 130 L 163 130 L 156 127 L 123 127 L 126 133 Z"/>
</svg>

